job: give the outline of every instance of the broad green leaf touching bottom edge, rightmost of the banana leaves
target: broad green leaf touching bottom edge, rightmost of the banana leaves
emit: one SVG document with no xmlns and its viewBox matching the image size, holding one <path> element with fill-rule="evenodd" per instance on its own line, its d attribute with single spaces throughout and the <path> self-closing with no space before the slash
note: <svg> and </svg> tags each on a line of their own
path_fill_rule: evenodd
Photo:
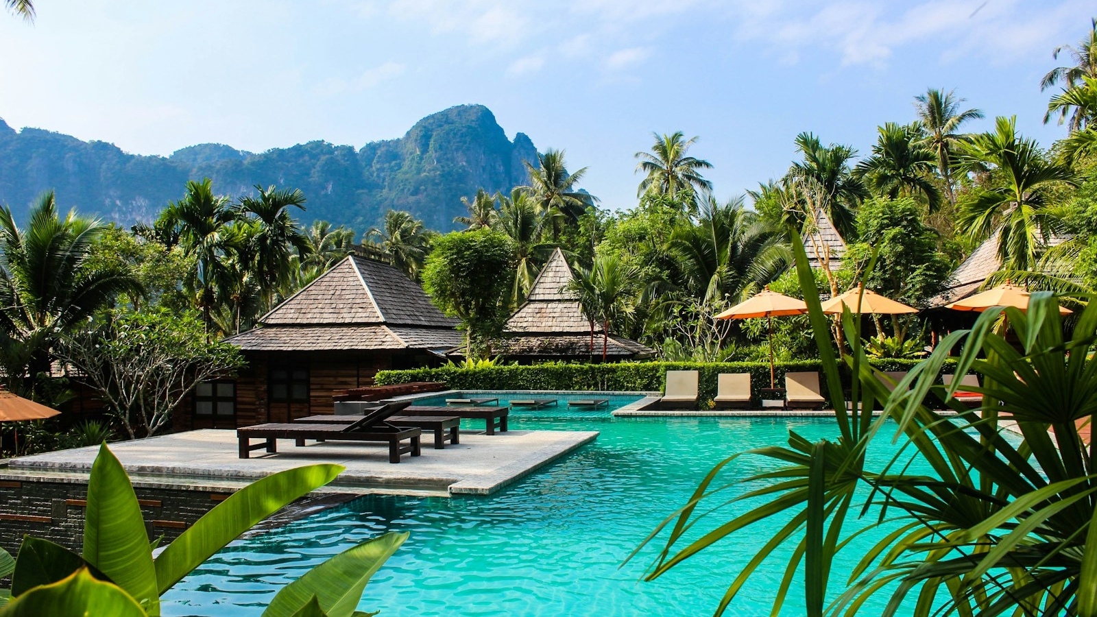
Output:
<svg viewBox="0 0 1097 617">
<path fill-rule="evenodd" d="M 329 617 L 353 617 L 370 577 L 407 538 L 388 532 L 332 557 L 282 587 L 262 617 L 293 617 L 313 598 Z"/>
</svg>

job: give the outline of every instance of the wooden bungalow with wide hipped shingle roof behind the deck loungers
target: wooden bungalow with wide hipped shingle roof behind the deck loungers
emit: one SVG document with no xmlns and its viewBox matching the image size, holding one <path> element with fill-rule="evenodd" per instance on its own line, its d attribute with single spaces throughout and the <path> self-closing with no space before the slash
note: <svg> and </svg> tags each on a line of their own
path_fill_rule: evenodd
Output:
<svg viewBox="0 0 1097 617">
<path fill-rule="evenodd" d="M 384 369 L 436 366 L 461 345 L 416 282 L 351 255 L 225 340 L 248 361 L 236 380 L 201 384 L 176 428 L 235 428 L 330 412 L 331 391 L 373 384 Z"/>
</svg>

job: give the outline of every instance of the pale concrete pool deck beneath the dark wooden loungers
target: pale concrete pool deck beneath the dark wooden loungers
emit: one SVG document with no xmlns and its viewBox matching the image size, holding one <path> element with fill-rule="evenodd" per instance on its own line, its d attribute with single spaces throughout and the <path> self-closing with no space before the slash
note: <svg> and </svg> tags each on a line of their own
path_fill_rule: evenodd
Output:
<svg viewBox="0 0 1097 617">
<path fill-rule="evenodd" d="M 279 452 L 237 453 L 235 430 L 202 429 L 111 444 L 135 485 L 235 490 L 270 473 L 313 463 L 338 463 L 347 471 L 325 487 L 348 493 L 488 495 L 593 441 L 597 431 L 508 430 L 491 436 L 466 433 L 461 444 L 420 457 L 388 462 L 387 445 L 349 441 L 297 448 L 280 439 Z M 0 468 L 0 481 L 44 480 L 86 483 L 99 448 L 77 448 L 21 457 Z"/>
</svg>

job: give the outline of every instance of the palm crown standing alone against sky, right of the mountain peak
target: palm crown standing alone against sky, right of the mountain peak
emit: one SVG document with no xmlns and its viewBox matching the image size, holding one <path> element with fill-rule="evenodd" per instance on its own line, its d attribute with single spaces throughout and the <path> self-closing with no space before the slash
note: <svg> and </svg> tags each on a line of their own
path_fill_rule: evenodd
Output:
<svg viewBox="0 0 1097 617">
<path fill-rule="evenodd" d="M 695 195 L 712 190 L 712 182 L 701 176 L 701 170 L 712 169 L 712 164 L 686 156 L 690 146 L 700 137 L 693 136 L 687 139 L 681 131 L 670 135 L 652 133 L 652 136 L 655 137 L 652 152 L 635 155 L 640 159 L 636 171 L 643 171 L 645 175 L 636 189 L 637 197 L 651 192 L 674 200 L 678 193 L 687 191 L 693 195 L 690 198 L 691 201 L 695 202 Z"/>
</svg>

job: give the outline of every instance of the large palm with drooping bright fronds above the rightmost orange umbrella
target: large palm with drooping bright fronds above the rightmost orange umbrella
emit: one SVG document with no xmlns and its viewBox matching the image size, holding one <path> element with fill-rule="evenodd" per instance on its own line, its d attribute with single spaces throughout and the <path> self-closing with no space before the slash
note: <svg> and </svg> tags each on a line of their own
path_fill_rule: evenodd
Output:
<svg viewBox="0 0 1097 617">
<path fill-rule="evenodd" d="M 1075 186 L 1074 172 L 1049 162 L 1032 139 L 1017 135 L 1016 116 L 998 116 L 993 133 L 961 145 L 960 165 L 976 172 L 994 171 L 998 186 L 964 203 L 959 224 L 975 237 L 997 228 L 1003 268 L 1028 270 L 1059 224 L 1049 213 L 1044 189 L 1054 182 Z"/>
</svg>

